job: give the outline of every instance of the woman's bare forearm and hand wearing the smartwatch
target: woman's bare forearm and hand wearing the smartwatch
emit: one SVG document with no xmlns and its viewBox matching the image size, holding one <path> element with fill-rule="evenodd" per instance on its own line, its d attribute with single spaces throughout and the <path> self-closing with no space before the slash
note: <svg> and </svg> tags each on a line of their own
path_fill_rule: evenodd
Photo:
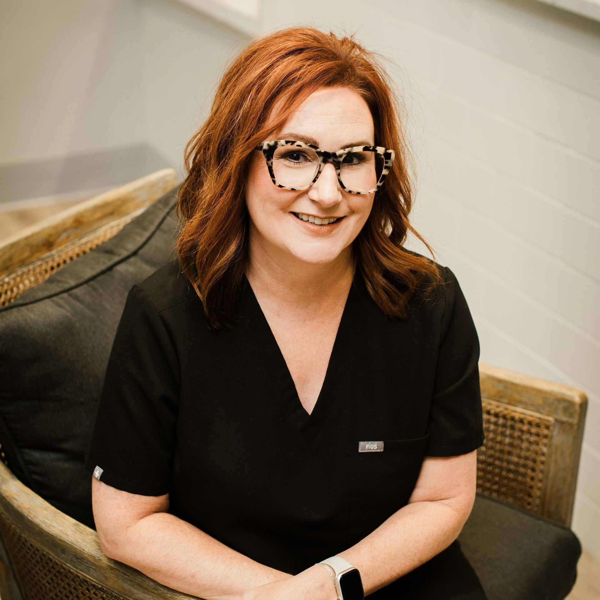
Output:
<svg viewBox="0 0 600 600">
<path fill-rule="evenodd" d="M 476 450 L 458 456 L 424 458 L 407 505 L 360 542 L 338 553 L 361 572 L 365 596 L 406 575 L 452 544 L 473 508 L 476 477 Z M 313 565 L 287 580 L 250 590 L 244 600 L 335 597 L 335 586 L 326 570 Z"/>
</svg>

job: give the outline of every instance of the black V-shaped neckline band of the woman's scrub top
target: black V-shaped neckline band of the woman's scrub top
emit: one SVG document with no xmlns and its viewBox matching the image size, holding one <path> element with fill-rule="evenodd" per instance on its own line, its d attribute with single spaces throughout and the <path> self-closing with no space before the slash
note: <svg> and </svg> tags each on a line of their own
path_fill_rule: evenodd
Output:
<svg viewBox="0 0 600 600">
<path fill-rule="evenodd" d="M 265 313 L 263 312 L 262 307 L 256 298 L 256 294 L 250 285 L 250 281 L 248 281 L 248 278 L 244 275 L 244 287 L 248 294 L 248 299 L 250 300 L 254 309 L 251 311 L 251 313 L 256 316 L 258 321 L 256 325 L 260 330 L 262 330 L 262 332 L 264 332 L 266 339 L 263 338 L 263 340 L 271 346 L 272 352 L 266 352 L 266 355 L 271 355 L 274 361 L 278 362 L 278 364 L 271 365 L 272 369 L 281 370 L 282 377 L 275 377 L 274 379 L 279 380 L 281 383 L 280 393 L 285 397 L 287 404 L 286 412 L 288 413 L 292 424 L 300 431 L 310 446 L 316 441 L 316 437 L 319 434 L 323 422 L 325 422 L 325 418 L 328 415 L 331 404 L 334 401 L 335 385 L 332 384 L 332 379 L 336 379 L 338 376 L 340 376 L 340 370 L 343 367 L 343 361 L 340 360 L 340 348 L 344 346 L 345 342 L 347 343 L 347 341 L 349 341 L 347 339 L 348 336 L 346 332 L 349 329 L 348 320 L 351 319 L 350 313 L 352 312 L 352 304 L 354 301 L 355 287 L 358 277 L 358 269 L 356 269 L 352 279 L 352 284 L 350 285 L 348 296 L 346 298 L 346 304 L 344 304 L 341 314 L 340 324 L 338 325 L 338 329 L 335 334 L 331 354 L 329 355 L 329 361 L 325 371 L 325 378 L 323 379 L 323 384 L 319 391 L 319 395 L 317 396 L 316 403 L 313 406 L 313 410 L 311 410 L 309 414 L 304 406 L 302 406 L 298 389 L 296 388 L 296 383 L 294 382 L 292 373 L 287 366 L 283 352 L 281 352 L 281 348 L 277 343 L 277 339 L 275 338 L 268 320 L 266 319 Z"/>
</svg>

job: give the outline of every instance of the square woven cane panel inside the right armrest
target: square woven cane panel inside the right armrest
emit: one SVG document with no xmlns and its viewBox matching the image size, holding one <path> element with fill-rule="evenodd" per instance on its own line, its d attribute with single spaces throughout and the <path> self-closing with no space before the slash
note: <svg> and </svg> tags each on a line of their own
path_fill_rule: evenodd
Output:
<svg viewBox="0 0 600 600">
<path fill-rule="evenodd" d="M 487 398 L 482 403 L 477 491 L 540 514 L 554 419 Z"/>
</svg>

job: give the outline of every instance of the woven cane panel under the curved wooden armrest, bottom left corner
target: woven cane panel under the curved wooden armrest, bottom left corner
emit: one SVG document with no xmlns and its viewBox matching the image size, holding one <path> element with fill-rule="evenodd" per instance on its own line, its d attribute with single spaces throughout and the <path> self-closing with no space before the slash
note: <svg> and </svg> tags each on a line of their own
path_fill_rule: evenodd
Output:
<svg viewBox="0 0 600 600">
<path fill-rule="evenodd" d="M 23 600 L 128 600 L 56 560 L 4 515 L 0 528 Z"/>
</svg>

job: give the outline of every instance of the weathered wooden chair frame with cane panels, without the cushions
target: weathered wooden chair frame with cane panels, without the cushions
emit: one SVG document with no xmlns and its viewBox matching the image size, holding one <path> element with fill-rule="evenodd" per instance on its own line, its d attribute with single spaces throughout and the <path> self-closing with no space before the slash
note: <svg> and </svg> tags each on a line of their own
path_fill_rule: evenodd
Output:
<svg viewBox="0 0 600 600">
<path fill-rule="evenodd" d="M 23 283 L 24 269 L 33 265 L 35 271 L 36 264 L 52 256 L 50 272 L 38 280 L 33 278 L 33 284 L 40 283 L 82 253 L 73 245 L 85 242 L 83 252 L 91 250 L 177 183 L 172 169 L 152 173 L 79 203 L 0 244 L 0 286 L 4 282 L 5 292 L 8 290 L 5 301 L 12 301 L 28 287 Z M 56 256 L 65 248 L 69 249 L 67 259 L 57 263 Z M 478 492 L 570 526 L 586 395 L 569 386 L 482 363 L 479 373 L 486 440 L 478 451 Z M 524 439 L 531 443 L 521 452 L 519 443 Z M 510 440 L 517 451 L 512 446 L 507 451 Z M 31 597 L 20 590 L 29 589 L 29 580 L 41 577 L 28 570 L 32 556 L 37 563 L 50 565 L 48 569 L 95 590 L 93 595 L 77 598 L 195 598 L 106 557 L 94 530 L 33 493 L 0 462 L 2 600 Z"/>
</svg>

